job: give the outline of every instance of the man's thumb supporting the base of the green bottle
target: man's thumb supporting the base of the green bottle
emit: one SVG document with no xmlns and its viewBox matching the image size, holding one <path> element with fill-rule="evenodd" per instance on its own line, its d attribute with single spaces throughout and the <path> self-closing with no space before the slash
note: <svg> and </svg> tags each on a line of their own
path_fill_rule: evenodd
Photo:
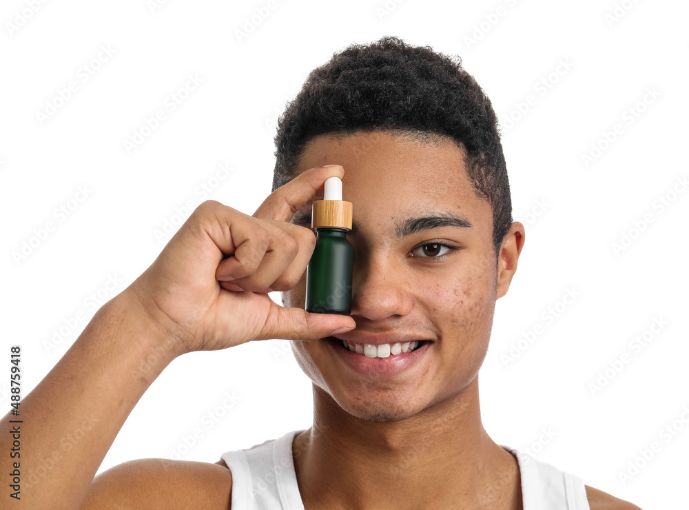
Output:
<svg viewBox="0 0 689 510">
<path fill-rule="evenodd" d="M 333 333 L 345 333 L 356 327 L 348 315 L 312 314 L 305 309 L 274 307 L 275 313 L 265 321 L 263 340 L 320 340 Z"/>
</svg>

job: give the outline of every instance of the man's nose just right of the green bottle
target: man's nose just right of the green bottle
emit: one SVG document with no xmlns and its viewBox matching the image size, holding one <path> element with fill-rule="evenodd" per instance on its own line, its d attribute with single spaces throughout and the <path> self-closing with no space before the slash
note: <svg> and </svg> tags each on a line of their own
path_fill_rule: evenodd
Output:
<svg viewBox="0 0 689 510">
<path fill-rule="evenodd" d="M 409 279 L 404 267 L 390 254 L 368 254 L 364 261 L 355 257 L 351 316 L 384 320 L 406 316 L 413 307 Z"/>
</svg>

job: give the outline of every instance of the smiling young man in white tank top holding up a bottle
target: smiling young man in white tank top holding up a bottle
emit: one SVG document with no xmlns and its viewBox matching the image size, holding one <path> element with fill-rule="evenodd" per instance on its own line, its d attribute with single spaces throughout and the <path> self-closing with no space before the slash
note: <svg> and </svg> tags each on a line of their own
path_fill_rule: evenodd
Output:
<svg viewBox="0 0 689 510">
<path fill-rule="evenodd" d="M 22 465 L 54 460 L 22 491 L 25 504 L 637 508 L 528 462 L 482 427 L 477 374 L 524 227 L 511 221 L 497 121 L 471 76 L 398 39 L 353 46 L 309 76 L 276 146 L 274 192 L 254 216 L 198 207 L 23 400 L 31 425 Z M 311 202 L 330 176 L 354 205 L 351 316 L 303 309 Z M 294 340 L 313 381 L 313 427 L 215 465 L 136 460 L 92 482 L 138 398 L 176 356 L 267 338 Z M 61 448 L 84 414 L 85 436 Z"/>
</svg>

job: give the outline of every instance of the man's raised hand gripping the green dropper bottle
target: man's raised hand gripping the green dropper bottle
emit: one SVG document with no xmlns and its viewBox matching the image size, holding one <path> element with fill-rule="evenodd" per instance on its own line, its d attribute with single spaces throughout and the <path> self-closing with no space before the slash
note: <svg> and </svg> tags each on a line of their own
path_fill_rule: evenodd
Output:
<svg viewBox="0 0 689 510">
<path fill-rule="evenodd" d="M 143 306 L 176 354 L 233 347 L 251 340 L 316 340 L 349 316 L 282 307 L 267 292 L 293 288 L 316 245 L 306 227 L 289 223 L 339 166 L 311 168 L 278 188 L 254 216 L 206 201 L 125 291 Z"/>
</svg>

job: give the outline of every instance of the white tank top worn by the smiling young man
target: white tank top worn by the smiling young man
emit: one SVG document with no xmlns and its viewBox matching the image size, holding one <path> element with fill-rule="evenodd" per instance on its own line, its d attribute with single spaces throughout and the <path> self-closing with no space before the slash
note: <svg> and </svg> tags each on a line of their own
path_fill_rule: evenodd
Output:
<svg viewBox="0 0 689 510">
<path fill-rule="evenodd" d="M 247 450 L 223 453 L 232 471 L 233 510 L 304 510 L 292 458 L 292 431 Z M 524 510 L 590 510 L 584 482 L 503 447 L 519 462 Z"/>
</svg>

